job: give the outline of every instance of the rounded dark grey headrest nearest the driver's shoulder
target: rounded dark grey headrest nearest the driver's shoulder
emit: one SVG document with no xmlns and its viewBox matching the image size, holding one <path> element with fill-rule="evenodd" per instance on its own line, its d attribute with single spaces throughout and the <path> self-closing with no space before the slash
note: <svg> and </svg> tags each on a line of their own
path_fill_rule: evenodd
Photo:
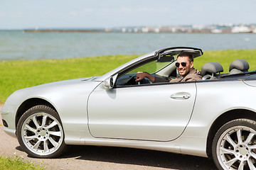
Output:
<svg viewBox="0 0 256 170">
<path fill-rule="evenodd" d="M 204 76 L 206 74 L 216 74 L 223 72 L 223 67 L 218 62 L 208 62 L 203 65 L 201 69 L 201 75 Z"/>
</svg>

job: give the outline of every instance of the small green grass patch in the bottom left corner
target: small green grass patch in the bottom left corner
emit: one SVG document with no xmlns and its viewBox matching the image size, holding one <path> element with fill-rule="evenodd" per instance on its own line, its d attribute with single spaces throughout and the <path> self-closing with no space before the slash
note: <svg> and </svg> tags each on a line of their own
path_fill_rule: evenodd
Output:
<svg viewBox="0 0 256 170">
<path fill-rule="evenodd" d="M 41 164 L 34 165 L 31 162 L 24 162 L 21 157 L 0 157 L 0 169 L 5 170 L 44 170 Z"/>
</svg>

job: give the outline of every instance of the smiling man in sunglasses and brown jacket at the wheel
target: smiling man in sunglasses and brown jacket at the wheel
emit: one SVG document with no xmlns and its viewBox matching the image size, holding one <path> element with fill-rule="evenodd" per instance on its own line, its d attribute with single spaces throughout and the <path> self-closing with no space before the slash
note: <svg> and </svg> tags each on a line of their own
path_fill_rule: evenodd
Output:
<svg viewBox="0 0 256 170">
<path fill-rule="evenodd" d="M 177 57 L 176 67 L 181 77 L 171 79 L 171 81 L 154 77 L 147 72 L 137 72 L 136 80 L 140 81 L 145 77 L 154 83 L 159 82 L 183 82 L 183 81 L 198 81 L 202 79 L 201 73 L 193 68 L 193 55 L 189 52 L 181 52 Z"/>
</svg>

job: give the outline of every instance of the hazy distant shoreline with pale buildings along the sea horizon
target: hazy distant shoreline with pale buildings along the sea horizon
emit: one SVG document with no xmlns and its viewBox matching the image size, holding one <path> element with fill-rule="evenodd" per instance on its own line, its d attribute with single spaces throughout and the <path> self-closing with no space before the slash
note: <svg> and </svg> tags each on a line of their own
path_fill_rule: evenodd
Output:
<svg viewBox="0 0 256 170">
<path fill-rule="evenodd" d="M 29 33 L 256 33 L 256 23 L 185 26 L 118 26 L 112 28 L 38 28 L 36 26 L 18 30 Z"/>
</svg>

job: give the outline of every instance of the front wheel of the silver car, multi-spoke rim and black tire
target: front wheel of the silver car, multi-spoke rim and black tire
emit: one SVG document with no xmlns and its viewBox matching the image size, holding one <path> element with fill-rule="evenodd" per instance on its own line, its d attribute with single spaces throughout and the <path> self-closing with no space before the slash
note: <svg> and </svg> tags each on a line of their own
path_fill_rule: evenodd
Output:
<svg viewBox="0 0 256 170">
<path fill-rule="evenodd" d="M 48 106 L 28 109 L 18 120 L 16 132 L 21 148 L 31 157 L 58 157 L 65 150 L 60 117 Z"/>
</svg>

